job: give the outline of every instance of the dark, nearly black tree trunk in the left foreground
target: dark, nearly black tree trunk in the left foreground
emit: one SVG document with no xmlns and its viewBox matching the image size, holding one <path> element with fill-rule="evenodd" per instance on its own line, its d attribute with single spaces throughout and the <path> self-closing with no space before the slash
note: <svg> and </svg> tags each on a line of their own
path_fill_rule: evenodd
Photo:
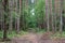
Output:
<svg viewBox="0 0 65 43">
<path fill-rule="evenodd" d="M 4 8 L 4 12 L 8 14 L 8 0 L 4 0 L 3 1 L 3 8 Z M 4 29 L 3 29 L 3 40 L 5 40 L 8 37 L 6 37 L 6 16 L 4 14 Z"/>
</svg>

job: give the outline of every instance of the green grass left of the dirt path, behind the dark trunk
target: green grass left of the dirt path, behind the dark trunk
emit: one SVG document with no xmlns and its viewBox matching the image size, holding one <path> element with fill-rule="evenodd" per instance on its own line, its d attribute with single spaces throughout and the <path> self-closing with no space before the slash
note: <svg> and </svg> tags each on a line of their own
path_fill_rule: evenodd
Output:
<svg viewBox="0 0 65 43">
<path fill-rule="evenodd" d="M 8 32 L 8 38 L 14 38 L 14 37 L 20 37 L 20 35 L 23 35 L 23 34 L 26 34 L 28 32 L 26 31 L 21 31 L 18 34 L 15 32 L 15 31 L 12 31 L 11 33 Z M 3 32 L 0 31 L 0 38 L 3 38 Z"/>
</svg>

